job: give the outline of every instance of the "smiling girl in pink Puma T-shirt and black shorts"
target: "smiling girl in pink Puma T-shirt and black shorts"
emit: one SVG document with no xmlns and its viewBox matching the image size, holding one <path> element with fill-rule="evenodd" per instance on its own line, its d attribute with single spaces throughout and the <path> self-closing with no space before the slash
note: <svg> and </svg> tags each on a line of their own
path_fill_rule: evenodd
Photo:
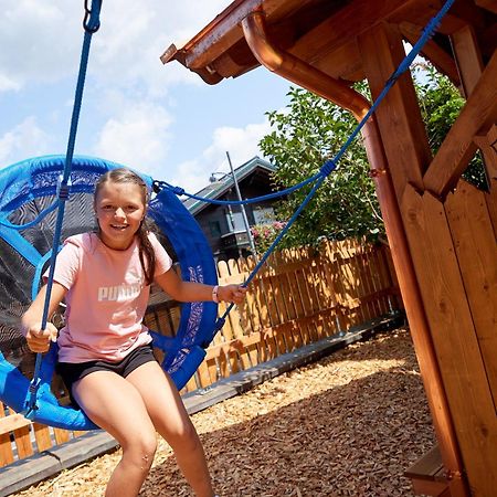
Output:
<svg viewBox="0 0 497 497">
<path fill-rule="evenodd" d="M 57 340 L 57 371 L 73 402 L 114 436 L 123 457 L 106 497 L 137 496 L 157 447 L 156 431 L 175 451 L 198 497 L 212 497 L 202 445 L 170 378 L 155 360 L 141 324 L 150 284 L 180 302 L 241 303 L 246 288 L 182 282 L 171 258 L 144 225 L 148 190 L 127 169 L 105 173 L 95 188 L 97 233 L 71 236 L 57 256 L 49 315 L 65 299 L 65 326 L 41 330 L 46 287 L 22 318 L 33 352 Z"/>
</svg>

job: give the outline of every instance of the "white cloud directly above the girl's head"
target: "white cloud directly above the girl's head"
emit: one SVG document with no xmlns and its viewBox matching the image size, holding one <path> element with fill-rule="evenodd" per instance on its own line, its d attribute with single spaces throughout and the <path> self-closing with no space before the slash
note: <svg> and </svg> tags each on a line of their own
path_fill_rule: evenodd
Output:
<svg viewBox="0 0 497 497">
<path fill-rule="evenodd" d="M 154 176 L 167 157 L 170 124 L 169 114 L 159 105 L 123 101 L 121 110 L 105 123 L 94 154 Z"/>
</svg>

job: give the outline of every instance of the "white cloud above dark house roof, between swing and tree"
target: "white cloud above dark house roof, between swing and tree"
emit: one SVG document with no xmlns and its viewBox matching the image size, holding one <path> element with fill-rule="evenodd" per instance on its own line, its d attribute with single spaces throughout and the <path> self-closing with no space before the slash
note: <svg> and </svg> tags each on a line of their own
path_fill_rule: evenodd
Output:
<svg viewBox="0 0 497 497">
<path fill-rule="evenodd" d="M 212 144 L 203 150 L 201 157 L 179 165 L 173 179 L 173 186 L 183 188 L 189 193 L 199 191 L 209 182 L 214 171 L 229 172 L 226 151 L 234 168 L 241 166 L 254 156 L 262 155 L 258 141 L 269 131 L 267 121 L 250 124 L 244 128 L 221 127 L 214 130 Z"/>
</svg>

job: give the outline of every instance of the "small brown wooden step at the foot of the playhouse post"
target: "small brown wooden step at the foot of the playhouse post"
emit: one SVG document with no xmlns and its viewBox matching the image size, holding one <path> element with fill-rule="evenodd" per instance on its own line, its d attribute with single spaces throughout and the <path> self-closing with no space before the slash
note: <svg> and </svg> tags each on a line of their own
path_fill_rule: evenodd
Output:
<svg viewBox="0 0 497 497">
<path fill-rule="evenodd" d="M 415 494 L 436 497 L 451 496 L 438 445 L 416 461 L 404 474 L 411 478 Z"/>
</svg>

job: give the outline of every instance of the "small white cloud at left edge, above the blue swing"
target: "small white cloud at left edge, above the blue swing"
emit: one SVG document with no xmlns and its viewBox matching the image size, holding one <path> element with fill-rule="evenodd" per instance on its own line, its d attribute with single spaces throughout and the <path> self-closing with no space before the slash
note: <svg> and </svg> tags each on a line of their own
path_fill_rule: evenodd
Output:
<svg viewBox="0 0 497 497">
<path fill-rule="evenodd" d="M 0 167 L 50 151 L 51 138 L 31 116 L 0 137 Z"/>
</svg>

